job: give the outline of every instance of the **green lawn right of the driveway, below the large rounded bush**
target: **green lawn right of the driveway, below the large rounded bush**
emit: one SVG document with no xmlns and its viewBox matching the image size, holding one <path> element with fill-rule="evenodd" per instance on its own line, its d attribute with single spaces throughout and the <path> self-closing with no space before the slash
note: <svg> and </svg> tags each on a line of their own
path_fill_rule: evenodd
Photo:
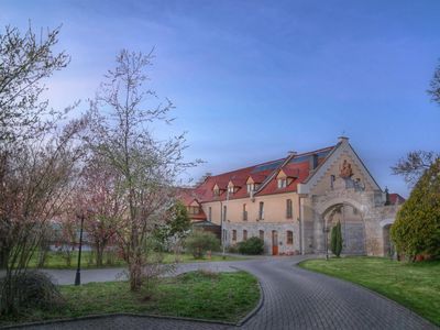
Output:
<svg viewBox="0 0 440 330">
<path fill-rule="evenodd" d="M 309 260 L 302 268 L 375 290 L 440 326 L 440 261 L 404 263 L 382 257 Z"/>
</svg>

